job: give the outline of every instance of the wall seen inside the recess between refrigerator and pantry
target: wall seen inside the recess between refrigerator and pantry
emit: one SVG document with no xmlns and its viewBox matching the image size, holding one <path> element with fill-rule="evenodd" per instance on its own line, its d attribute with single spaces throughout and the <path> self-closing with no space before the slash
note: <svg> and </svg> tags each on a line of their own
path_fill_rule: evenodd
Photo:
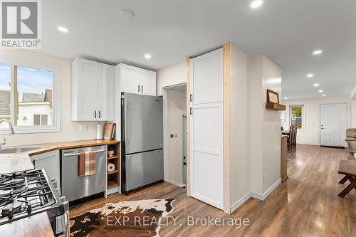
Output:
<svg viewBox="0 0 356 237">
<path fill-rule="evenodd" d="M 186 93 L 182 91 L 166 90 L 167 98 L 167 141 L 166 172 L 164 179 L 172 184 L 183 184 L 183 115 L 186 115 Z M 173 134 L 174 137 L 169 135 Z M 175 137 L 177 135 L 177 137 Z"/>
</svg>

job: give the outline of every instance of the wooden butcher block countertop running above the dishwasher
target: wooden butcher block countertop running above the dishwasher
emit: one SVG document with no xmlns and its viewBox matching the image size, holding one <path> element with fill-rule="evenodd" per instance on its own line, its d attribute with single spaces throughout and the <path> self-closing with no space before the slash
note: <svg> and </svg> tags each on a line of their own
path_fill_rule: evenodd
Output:
<svg viewBox="0 0 356 237">
<path fill-rule="evenodd" d="M 43 147 L 41 149 L 36 149 L 31 152 L 28 152 L 28 155 L 33 156 L 35 154 L 41 154 L 45 152 L 51 152 L 56 149 L 71 149 L 78 147 L 93 147 L 93 146 L 101 146 L 101 145 L 110 145 L 110 144 L 118 144 L 119 141 L 116 140 L 80 140 L 80 141 L 70 141 L 70 142 L 51 142 L 51 143 L 42 143 L 42 144 L 31 144 L 27 146 L 21 147 Z"/>
</svg>

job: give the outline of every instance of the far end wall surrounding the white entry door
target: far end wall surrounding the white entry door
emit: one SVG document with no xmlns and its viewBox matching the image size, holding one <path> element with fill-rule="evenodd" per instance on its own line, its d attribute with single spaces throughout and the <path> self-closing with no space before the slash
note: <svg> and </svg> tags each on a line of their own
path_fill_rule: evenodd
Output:
<svg viewBox="0 0 356 237">
<path fill-rule="evenodd" d="M 305 100 L 282 100 L 283 105 L 286 105 L 286 123 L 283 127 L 288 130 L 289 127 L 289 106 L 290 105 L 304 105 L 305 111 L 305 129 L 298 130 L 297 143 L 298 144 L 313 144 L 319 145 L 319 106 L 320 103 L 335 103 L 335 102 L 350 102 L 350 98 L 314 98 Z M 356 127 L 356 100 L 350 103 L 350 125 Z"/>
</svg>

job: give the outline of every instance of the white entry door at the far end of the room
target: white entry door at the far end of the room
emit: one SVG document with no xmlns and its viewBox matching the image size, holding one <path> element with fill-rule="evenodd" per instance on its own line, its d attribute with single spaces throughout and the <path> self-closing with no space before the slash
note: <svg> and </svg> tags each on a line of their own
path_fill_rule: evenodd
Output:
<svg viewBox="0 0 356 237">
<path fill-rule="evenodd" d="M 347 104 L 320 105 L 320 145 L 346 147 Z"/>
</svg>

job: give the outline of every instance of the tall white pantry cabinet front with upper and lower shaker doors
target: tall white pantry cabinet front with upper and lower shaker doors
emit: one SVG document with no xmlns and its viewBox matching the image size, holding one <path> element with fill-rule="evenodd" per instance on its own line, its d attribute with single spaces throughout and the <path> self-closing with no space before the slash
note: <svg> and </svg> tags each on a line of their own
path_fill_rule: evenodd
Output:
<svg viewBox="0 0 356 237">
<path fill-rule="evenodd" d="M 224 209 L 223 51 L 191 60 L 190 195 Z"/>
</svg>

